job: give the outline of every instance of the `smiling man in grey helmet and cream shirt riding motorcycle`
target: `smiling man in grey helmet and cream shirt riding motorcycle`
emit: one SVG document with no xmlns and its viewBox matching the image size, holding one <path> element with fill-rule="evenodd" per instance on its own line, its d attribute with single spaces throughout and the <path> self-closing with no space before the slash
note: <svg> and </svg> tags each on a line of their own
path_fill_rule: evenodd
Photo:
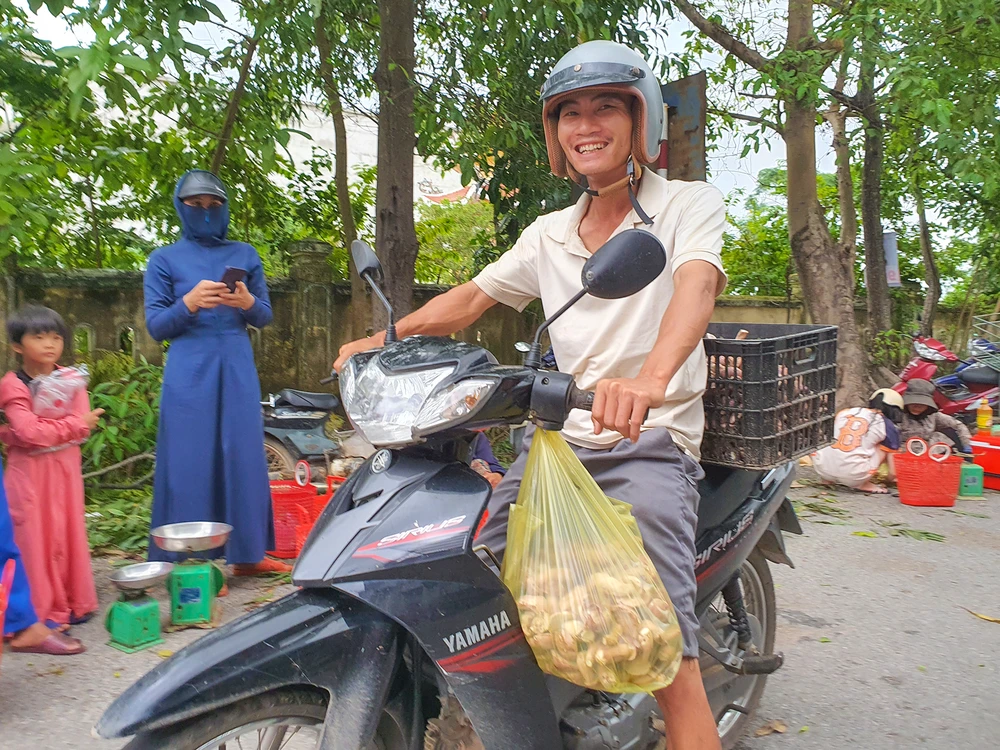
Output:
<svg viewBox="0 0 1000 750">
<path fill-rule="evenodd" d="M 719 739 L 698 668 L 694 537 L 707 379 L 701 342 L 726 283 L 725 205 L 706 183 L 668 182 L 642 169 L 659 152 L 664 114 L 659 83 L 634 51 L 612 42 L 580 45 L 556 63 L 542 102 L 552 171 L 585 194 L 539 217 L 473 281 L 432 299 L 396 329 L 400 338 L 446 336 L 498 302 L 522 310 L 539 297 L 549 315 L 579 291 L 583 264 L 610 237 L 645 225 L 660 239 L 669 274 L 626 299 L 585 297 L 549 332 L 560 368 L 596 391 L 591 416 L 572 412 L 563 434 L 602 489 L 632 505 L 681 625 L 682 667 L 656 694 L 670 747 L 712 750 Z M 334 367 L 384 341 L 381 332 L 345 344 Z M 498 553 L 529 442 L 496 488 L 479 538 Z"/>
</svg>

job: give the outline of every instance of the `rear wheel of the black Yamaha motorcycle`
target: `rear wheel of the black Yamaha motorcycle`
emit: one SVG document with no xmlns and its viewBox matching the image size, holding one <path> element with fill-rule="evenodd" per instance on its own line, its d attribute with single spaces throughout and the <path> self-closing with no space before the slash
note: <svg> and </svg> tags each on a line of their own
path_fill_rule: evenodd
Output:
<svg viewBox="0 0 1000 750">
<path fill-rule="evenodd" d="M 767 560 L 759 550 L 754 550 L 740 569 L 743 601 L 750 619 L 754 645 L 762 654 L 774 653 L 775 600 L 774 581 Z M 736 633 L 729 624 L 726 604 L 719 594 L 711 604 L 712 620 L 733 654 L 742 656 L 736 643 Z M 734 675 L 708 655 L 701 657 L 701 674 L 713 710 L 716 711 L 719 739 L 723 750 L 731 750 L 747 730 L 753 714 L 764 693 L 767 677 L 764 675 Z M 719 706 L 740 706 L 742 711 L 728 710 L 719 715 Z M 744 713 L 745 712 L 745 713 Z"/>
</svg>

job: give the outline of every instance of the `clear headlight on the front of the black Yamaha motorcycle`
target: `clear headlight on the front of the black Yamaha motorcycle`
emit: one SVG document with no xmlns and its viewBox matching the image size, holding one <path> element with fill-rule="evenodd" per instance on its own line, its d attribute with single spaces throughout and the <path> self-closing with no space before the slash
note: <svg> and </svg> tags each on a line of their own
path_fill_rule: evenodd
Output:
<svg viewBox="0 0 1000 750">
<path fill-rule="evenodd" d="M 340 374 L 340 397 L 357 430 L 372 445 L 405 445 L 421 407 L 454 367 L 387 373 L 377 356 L 351 357 Z"/>
</svg>

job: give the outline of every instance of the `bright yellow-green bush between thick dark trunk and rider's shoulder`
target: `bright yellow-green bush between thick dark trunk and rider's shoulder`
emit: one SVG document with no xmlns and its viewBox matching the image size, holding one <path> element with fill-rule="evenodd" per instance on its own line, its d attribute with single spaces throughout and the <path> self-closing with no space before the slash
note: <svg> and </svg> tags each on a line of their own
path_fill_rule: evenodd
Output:
<svg viewBox="0 0 1000 750">
<path fill-rule="evenodd" d="M 462 284 L 481 270 L 494 245 L 489 203 L 422 203 L 417 211 L 418 282 Z"/>
</svg>

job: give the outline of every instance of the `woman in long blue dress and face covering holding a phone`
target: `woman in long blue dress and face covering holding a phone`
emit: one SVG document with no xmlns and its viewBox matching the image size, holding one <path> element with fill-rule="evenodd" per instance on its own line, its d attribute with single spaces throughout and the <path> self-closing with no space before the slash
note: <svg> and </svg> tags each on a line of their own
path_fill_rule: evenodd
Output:
<svg viewBox="0 0 1000 750">
<path fill-rule="evenodd" d="M 149 256 L 146 328 L 170 341 L 160 397 L 153 527 L 222 521 L 233 527 L 224 550 L 236 575 L 285 572 L 265 557 L 274 544 L 260 381 L 247 325 L 271 322 L 257 251 L 226 239 L 229 199 L 210 172 L 177 181 L 181 238 Z M 230 292 L 227 268 L 246 271 Z M 218 556 L 219 550 L 206 556 Z M 176 556 L 150 544 L 151 560 Z"/>
</svg>

